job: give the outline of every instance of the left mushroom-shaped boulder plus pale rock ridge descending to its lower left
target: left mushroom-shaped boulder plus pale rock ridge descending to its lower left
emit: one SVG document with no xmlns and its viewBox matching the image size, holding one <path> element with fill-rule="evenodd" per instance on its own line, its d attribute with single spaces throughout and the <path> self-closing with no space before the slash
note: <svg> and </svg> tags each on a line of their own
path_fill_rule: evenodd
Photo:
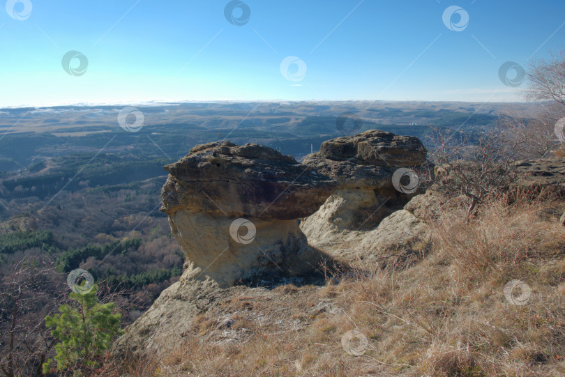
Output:
<svg viewBox="0 0 565 377">
<path fill-rule="evenodd" d="M 327 261 L 297 219 L 314 213 L 337 182 L 266 146 L 195 146 L 169 171 L 161 210 L 186 254 L 179 282 L 114 344 L 117 356 L 166 354 L 238 282 L 312 275 Z"/>
</svg>

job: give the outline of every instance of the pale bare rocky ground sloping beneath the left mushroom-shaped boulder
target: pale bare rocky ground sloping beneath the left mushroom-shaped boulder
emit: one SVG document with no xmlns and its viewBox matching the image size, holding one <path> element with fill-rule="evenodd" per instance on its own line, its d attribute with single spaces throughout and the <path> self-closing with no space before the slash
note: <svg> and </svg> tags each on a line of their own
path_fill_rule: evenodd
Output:
<svg viewBox="0 0 565 377">
<path fill-rule="evenodd" d="M 323 277 L 292 277 L 264 282 L 261 286 L 219 288 L 211 280 L 194 281 L 183 275 L 161 293 L 149 311 L 126 328 L 126 333 L 114 343 L 112 353 L 117 357 L 131 355 L 146 360 L 148 355 L 169 357 L 179 352 L 186 341 L 194 339 L 211 347 L 239 344 L 253 335 L 246 328 L 250 323 L 276 323 L 278 331 L 302 331 L 308 325 L 304 318 L 313 318 L 322 311 L 342 312 L 331 301 L 318 301 L 317 295 L 324 289 Z M 308 297 L 313 295 L 311 301 L 319 303 L 311 307 L 296 305 L 297 295 L 305 302 L 310 302 Z M 164 375 L 186 376 L 187 373 L 184 369 L 179 374 Z"/>
</svg>

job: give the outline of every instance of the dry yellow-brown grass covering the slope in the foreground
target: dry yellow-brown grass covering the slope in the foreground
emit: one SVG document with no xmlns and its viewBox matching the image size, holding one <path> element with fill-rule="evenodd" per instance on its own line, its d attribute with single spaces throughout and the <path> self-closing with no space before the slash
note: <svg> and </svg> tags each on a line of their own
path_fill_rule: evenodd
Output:
<svg viewBox="0 0 565 377">
<path fill-rule="evenodd" d="M 216 319 L 202 314 L 193 337 L 163 360 L 109 364 L 101 375 L 565 376 L 565 229 L 555 215 L 562 207 L 500 198 L 467 221 L 455 206 L 431 222 L 432 250 L 412 266 L 360 261 L 338 283 L 271 291 L 289 309 L 283 319 L 300 328 L 245 316 L 269 311 L 249 293 L 223 304 L 240 316 L 230 330 L 245 329 L 241 339 L 211 340 Z M 513 280 L 526 285 L 507 298 Z M 312 311 L 315 302 L 333 310 Z M 346 342 L 358 356 L 342 347 L 350 330 L 361 333 Z"/>
</svg>

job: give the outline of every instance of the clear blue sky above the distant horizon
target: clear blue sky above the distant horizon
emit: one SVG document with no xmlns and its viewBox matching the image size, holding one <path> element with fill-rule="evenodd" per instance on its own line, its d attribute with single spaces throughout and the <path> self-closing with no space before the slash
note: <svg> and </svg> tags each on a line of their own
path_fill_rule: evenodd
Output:
<svg viewBox="0 0 565 377">
<path fill-rule="evenodd" d="M 565 45 L 565 1 L 246 0 L 232 3 L 233 23 L 228 3 L 8 0 L 0 7 L 0 107 L 511 101 L 527 82 L 505 85 L 499 67 L 527 68 Z M 446 24 L 449 6 L 458 8 Z M 84 75 L 73 75 L 79 59 L 63 69 L 69 51 L 86 56 Z M 294 63 L 286 70 L 283 61 Z"/>
</svg>

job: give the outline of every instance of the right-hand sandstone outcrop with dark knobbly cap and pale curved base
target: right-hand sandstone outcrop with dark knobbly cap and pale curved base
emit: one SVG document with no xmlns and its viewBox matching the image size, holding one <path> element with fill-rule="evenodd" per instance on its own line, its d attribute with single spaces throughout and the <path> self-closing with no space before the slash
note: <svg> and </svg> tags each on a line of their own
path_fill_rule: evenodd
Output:
<svg viewBox="0 0 565 377">
<path fill-rule="evenodd" d="M 412 197 L 413 190 L 400 192 L 394 187 L 393 174 L 399 168 L 421 166 L 425 155 L 416 137 L 379 130 L 324 141 L 320 151 L 306 156 L 303 164 L 339 185 L 322 207 L 301 223 L 308 242 L 351 259 L 392 252 L 392 244 L 421 243 L 425 226 L 412 213 L 396 213 L 386 222 L 383 219 L 401 210 Z"/>
</svg>

